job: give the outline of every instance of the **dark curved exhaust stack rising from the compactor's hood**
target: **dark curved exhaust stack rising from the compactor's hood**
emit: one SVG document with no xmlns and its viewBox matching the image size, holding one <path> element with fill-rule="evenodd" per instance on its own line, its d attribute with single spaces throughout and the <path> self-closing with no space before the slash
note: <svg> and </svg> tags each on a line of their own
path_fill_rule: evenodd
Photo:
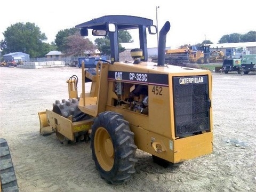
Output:
<svg viewBox="0 0 256 192">
<path fill-rule="evenodd" d="M 163 28 L 159 31 L 159 44 L 157 53 L 157 66 L 164 66 L 165 63 L 165 47 L 166 47 L 166 34 L 171 28 L 169 21 L 166 21 Z"/>
</svg>

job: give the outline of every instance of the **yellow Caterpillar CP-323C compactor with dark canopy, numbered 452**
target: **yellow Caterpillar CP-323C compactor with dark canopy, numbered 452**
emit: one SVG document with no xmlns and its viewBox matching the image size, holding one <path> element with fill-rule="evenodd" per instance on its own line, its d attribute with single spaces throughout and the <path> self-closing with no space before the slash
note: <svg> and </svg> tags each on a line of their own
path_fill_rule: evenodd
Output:
<svg viewBox="0 0 256 192">
<path fill-rule="evenodd" d="M 90 69 L 82 63 L 82 93 L 71 76 L 69 98 L 38 113 L 42 135 L 55 133 L 62 142 L 89 135 L 95 166 L 113 184 L 132 177 L 137 149 L 162 165 L 212 153 L 211 72 L 165 65 L 169 21 L 159 31 L 157 63 L 148 61 L 147 35 L 157 33 L 153 20 L 107 15 L 76 27 L 82 36 L 108 34 L 111 60 Z M 130 29 L 138 31 L 140 47 L 131 50 L 132 61 L 120 61 L 118 31 Z"/>
</svg>

